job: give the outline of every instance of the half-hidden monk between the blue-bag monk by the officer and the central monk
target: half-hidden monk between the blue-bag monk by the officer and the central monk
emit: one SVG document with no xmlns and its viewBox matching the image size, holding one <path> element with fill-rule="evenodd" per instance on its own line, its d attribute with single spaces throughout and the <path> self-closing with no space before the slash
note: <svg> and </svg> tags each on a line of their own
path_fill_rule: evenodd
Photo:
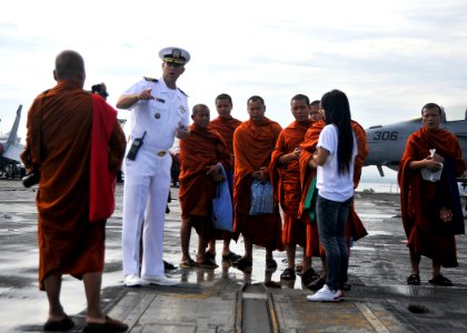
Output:
<svg viewBox="0 0 467 333">
<path fill-rule="evenodd" d="M 234 132 L 241 124 L 241 121 L 231 115 L 234 108 L 232 99 L 227 93 L 221 93 L 216 98 L 216 110 L 218 117 L 210 122 L 210 127 L 217 130 L 227 144 L 227 151 L 234 157 Z M 234 169 L 226 171 L 229 182 L 230 193 L 234 194 Z M 230 251 L 230 241 L 238 240 L 238 233 L 225 231 L 220 234 L 223 240 L 222 261 L 231 264 L 239 260 L 241 255 Z M 209 249 L 206 255 L 211 260 L 216 260 L 216 241 L 209 242 Z"/>
</svg>

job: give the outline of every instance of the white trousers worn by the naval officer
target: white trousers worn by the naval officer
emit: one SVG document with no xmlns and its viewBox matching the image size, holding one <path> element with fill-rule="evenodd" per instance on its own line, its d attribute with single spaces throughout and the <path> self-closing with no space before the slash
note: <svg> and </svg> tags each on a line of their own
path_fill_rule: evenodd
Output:
<svg viewBox="0 0 467 333">
<path fill-rule="evenodd" d="M 145 147 L 137 159 L 125 159 L 123 274 L 161 276 L 163 272 L 163 222 L 170 189 L 171 158 Z M 142 232 L 142 260 L 140 240 Z"/>
</svg>

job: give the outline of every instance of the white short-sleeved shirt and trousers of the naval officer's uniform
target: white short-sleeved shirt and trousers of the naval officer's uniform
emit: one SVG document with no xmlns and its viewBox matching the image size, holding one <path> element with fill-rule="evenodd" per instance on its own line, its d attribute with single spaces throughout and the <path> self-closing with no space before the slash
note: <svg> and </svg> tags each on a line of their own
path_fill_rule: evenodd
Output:
<svg viewBox="0 0 467 333">
<path fill-rule="evenodd" d="M 140 100 L 131 108 L 131 140 L 146 131 L 135 161 L 125 159 L 123 192 L 123 274 L 140 274 L 140 239 L 142 231 L 143 255 L 141 278 L 163 276 L 163 222 L 170 189 L 171 157 L 179 123 L 188 127 L 187 97 L 179 89 L 167 88 L 162 79 L 145 78 L 125 94 L 152 89 L 152 100 Z"/>
</svg>

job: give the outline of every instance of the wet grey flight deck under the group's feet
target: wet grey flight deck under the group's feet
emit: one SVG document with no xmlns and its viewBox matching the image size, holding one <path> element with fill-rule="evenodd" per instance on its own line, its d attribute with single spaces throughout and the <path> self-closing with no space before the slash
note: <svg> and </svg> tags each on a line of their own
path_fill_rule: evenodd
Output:
<svg viewBox="0 0 467 333">
<path fill-rule="evenodd" d="M 171 189 L 177 198 L 178 189 Z M 37 282 L 37 216 L 34 189 L 18 181 L 0 181 L 0 332 L 41 332 L 47 316 L 46 294 Z M 285 252 L 275 253 L 278 269 L 265 270 L 265 250 L 255 249 L 251 274 L 220 265 L 215 271 L 180 269 L 172 287 L 122 286 L 121 199 L 108 223 L 102 302 L 111 315 L 131 325 L 131 332 L 465 332 L 467 331 L 467 238 L 458 236 L 459 268 L 444 274 L 453 287 L 428 283 L 430 262 L 423 259 L 421 285 L 408 286 L 410 273 L 398 196 L 356 195 L 356 210 L 369 235 L 351 249 L 351 291 L 339 304 L 309 303 L 300 279 L 281 283 L 287 266 Z M 170 203 L 165 234 L 165 259 L 180 260 L 178 200 Z M 192 232 L 190 252 L 197 236 Z M 241 239 L 231 249 L 242 253 Z M 221 243 L 218 242 L 220 264 Z M 298 253 L 300 253 L 299 251 Z M 299 254 L 300 256 L 300 254 Z M 299 258 L 298 258 L 299 261 Z M 319 260 L 315 260 L 319 269 Z M 279 287 L 269 287 L 270 282 Z M 66 278 L 62 286 L 66 311 L 80 332 L 86 299 L 82 283 Z M 416 313 L 419 312 L 419 313 Z M 268 325 L 268 326 L 267 326 Z M 258 331 L 260 330 L 260 331 Z M 265 331 L 261 331 L 265 330 Z"/>
</svg>

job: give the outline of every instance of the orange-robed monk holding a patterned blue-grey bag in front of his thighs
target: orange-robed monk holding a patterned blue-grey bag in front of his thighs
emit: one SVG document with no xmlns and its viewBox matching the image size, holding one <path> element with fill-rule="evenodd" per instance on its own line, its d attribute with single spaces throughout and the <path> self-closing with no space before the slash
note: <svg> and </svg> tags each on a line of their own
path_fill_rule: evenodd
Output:
<svg viewBox="0 0 467 333">
<path fill-rule="evenodd" d="M 251 183 L 270 182 L 269 164 L 277 139 L 282 128 L 265 117 L 265 100 L 259 95 L 248 99 L 249 120 L 242 122 L 234 133 L 234 209 L 235 231 L 245 241 L 245 254 L 235 263 L 240 271 L 251 272 L 252 245 L 266 248 L 266 266 L 276 269 L 272 251 L 282 250 L 281 219 L 279 205 L 274 203 L 272 213 L 250 215 Z"/>
</svg>

